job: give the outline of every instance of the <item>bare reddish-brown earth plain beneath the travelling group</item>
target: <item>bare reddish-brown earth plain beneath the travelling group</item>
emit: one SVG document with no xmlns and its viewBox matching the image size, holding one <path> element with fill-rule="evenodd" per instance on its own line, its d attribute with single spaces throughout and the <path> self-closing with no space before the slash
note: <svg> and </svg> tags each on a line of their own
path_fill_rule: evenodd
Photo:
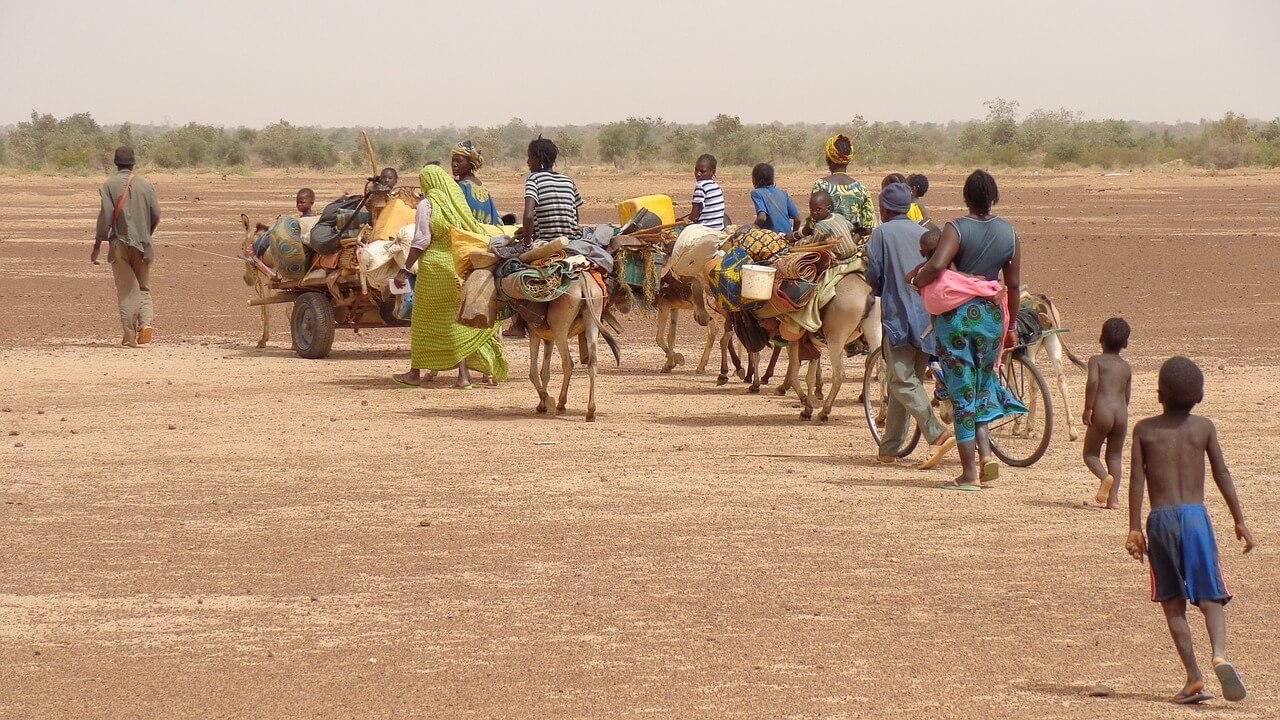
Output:
<svg viewBox="0 0 1280 720">
<path fill-rule="evenodd" d="M 589 223 L 637 195 L 687 202 L 692 184 L 573 174 Z M 1280 716 L 1280 174 L 997 177 L 1025 281 L 1074 350 L 1096 352 L 1111 315 L 1133 324 L 1134 419 L 1157 410 L 1162 359 L 1206 370 L 1202 411 L 1260 542 L 1240 555 L 1210 489 L 1244 703 L 1167 703 L 1181 671 L 1123 550 L 1126 515 L 1085 505 L 1096 486 L 1066 438 L 1079 370 L 1069 409 L 1053 395 L 1048 455 L 972 495 L 937 489 L 954 456 L 874 464 L 859 370 L 829 423 L 801 423 L 794 397 L 694 374 L 687 316 L 672 374 L 653 320 L 626 319 L 594 424 L 581 372 L 568 414 L 532 414 L 522 342 L 498 388 L 401 389 L 403 329 L 344 331 L 302 360 L 276 309 L 255 347 L 225 258 L 239 213 L 360 190 L 282 174 L 151 176 L 157 340 L 129 351 L 110 269 L 87 260 L 101 178 L 9 176 L 0 715 Z M 515 209 L 520 176 L 486 179 Z M 745 219 L 746 176 L 721 179 Z M 803 204 L 812 173 L 780 179 Z M 959 214 L 963 177 L 932 181 L 932 214 Z M 1112 694 L 1088 697 L 1098 683 Z"/>
</svg>

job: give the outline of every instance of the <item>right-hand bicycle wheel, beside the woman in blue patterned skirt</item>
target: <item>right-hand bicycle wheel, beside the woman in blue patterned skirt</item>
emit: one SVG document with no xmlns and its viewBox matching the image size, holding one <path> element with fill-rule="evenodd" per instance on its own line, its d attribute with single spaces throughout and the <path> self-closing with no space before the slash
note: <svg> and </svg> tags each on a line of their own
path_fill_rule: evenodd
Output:
<svg viewBox="0 0 1280 720">
<path fill-rule="evenodd" d="M 1015 468 L 1034 465 L 1044 456 L 1053 434 L 1053 404 L 1048 397 L 1048 383 L 1025 352 L 1016 352 L 1005 360 L 1000 382 L 1023 401 L 1028 413 L 1001 418 L 987 425 L 991 432 L 991 451 Z"/>
</svg>

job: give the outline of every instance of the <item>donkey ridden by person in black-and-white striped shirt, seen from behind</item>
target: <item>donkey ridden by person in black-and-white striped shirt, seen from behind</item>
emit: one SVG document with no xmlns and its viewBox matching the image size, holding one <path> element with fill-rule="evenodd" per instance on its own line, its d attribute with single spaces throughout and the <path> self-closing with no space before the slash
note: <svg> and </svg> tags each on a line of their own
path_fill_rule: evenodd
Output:
<svg viewBox="0 0 1280 720">
<path fill-rule="evenodd" d="M 573 356 L 570 354 L 568 338 L 577 337 L 586 363 L 590 389 L 586 400 L 586 421 L 595 421 L 595 365 L 596 341 L 604 336 L 604 342 L 613 351 L 613 359 L 622 364 L 622 355 L 613 336 L 604 328 L 604 291 L 594 281 L 579 275 L 568 284 L 568 290 L 547 302 L 545 319 L 525 316 L 529 324 L 529 380 L 538 391 L 539 415 L 547 414 L 550 396 L 547 392 L 552 379 L 552 346 L 561 356 L 561 393 L 556 404 L 556 414 L 564 413 L 568 401 L 568 383 L 573 377 Z M 520 306 L 517 305 L 517 309 Z M 539 363 L 541 355 L 541 363 Z"/>
</svg>

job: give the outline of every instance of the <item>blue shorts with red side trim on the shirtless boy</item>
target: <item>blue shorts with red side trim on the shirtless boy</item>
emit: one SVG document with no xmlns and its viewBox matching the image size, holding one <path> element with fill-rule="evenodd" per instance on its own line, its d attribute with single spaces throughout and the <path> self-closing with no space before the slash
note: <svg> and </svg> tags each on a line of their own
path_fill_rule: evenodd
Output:
<svg viewBox="0 0 1280 720">
<path fill-rule="evenodd" d="M 1226 605 L 1231 591 L 1222 579 L 1213 525 L 1203 505 L 1156 507 L 1147 516 L 1151 600 L 1210 600 Z"/>
</svg>

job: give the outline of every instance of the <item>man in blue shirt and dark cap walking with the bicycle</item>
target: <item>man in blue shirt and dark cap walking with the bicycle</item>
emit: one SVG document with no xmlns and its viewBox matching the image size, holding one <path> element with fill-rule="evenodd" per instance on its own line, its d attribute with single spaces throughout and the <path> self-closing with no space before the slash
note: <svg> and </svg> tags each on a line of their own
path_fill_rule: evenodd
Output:
<svg viewBox="0 0 1280 720">
<path fill-rule="evenodd" d="M 881 299 L 884 324 L 884 360 L 890 375 L 888 416 L 877 459 L 892 464 L 906 441 L 910 414 L 929 441 L 933 455 L 920 468 L 937 466 L 955 447 L 955 434 L 933 414 L 920 378 L 933 355 L 933 337 L 925 334 L 932 318 L 924 310 L 920 293 L 906 283 L 906 274 L 920 264 L 920 236 L 925 229 L 906 217 L 911 209 L 911 188 L 891 183 L 881 191 L 879 227 L 867 242 L 869 266 L 867 282 Z"/>
</svg>

